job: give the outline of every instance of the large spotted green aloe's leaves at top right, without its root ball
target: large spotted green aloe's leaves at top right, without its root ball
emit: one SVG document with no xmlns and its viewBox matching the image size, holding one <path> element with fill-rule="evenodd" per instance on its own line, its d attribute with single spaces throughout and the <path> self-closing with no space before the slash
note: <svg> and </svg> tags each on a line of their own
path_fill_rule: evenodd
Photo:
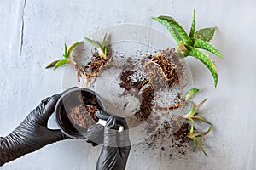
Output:
<svg viewBox="0 0 256 170">
<path fill-rule="evenodd" d="M 206 53 L 200 50 L 205 49 L 223 59 L 223 55 L 218 52 L 217 48 L 209 43 L 212 40 L 216 27 L 203 28 L 195 31 L 195 10 L 193 12 L 193 20 L 189 34 L 187 34 L 183 29 L 183 26 L 171 16 L 161 15 L 152 17 L 152 19 L 157 20 L 162 25 L 166 26 L 166 29 L 177 42 L 177 54 L 179 54 L 181 58 L 193 56 L 196 59 L 201 60 L 201 62 L 207 66 L 212 73 L 214 85 L 216 87 L 218 83 L 218 71 L 216 65 Z"/>
</svg>

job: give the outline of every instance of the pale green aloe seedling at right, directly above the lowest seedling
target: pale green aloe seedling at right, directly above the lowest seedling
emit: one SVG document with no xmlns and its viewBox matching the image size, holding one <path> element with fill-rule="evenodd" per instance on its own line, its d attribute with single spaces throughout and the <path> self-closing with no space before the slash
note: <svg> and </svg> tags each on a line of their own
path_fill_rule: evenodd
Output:
<svg viewBox="0 0 256 170">
<path fill-rule="evenodd" d="M 198 104 L 196 106 L 194 104 L 191 104 L 191 109 L 190 109 L 189 113 L 186 114 L 186 115 L 183 115 L 182 117 L 184 119 L 189 119 L 189 121 L 191 121 L 192 123 L 195 123 L 194 119 L 198 119 L 198 120 L 201 120 L 203 122 L 207 122 L 208 124 L 212 125 L 212 123 L 207 121 L 206 118 L 204 118 L 202 116 L 199 116 L 198 112 L 197 112 L 198 109 L 201 107 L 201 105 L 203 105 L 206 101 L 207 101 L 207 99 L 204 99 L 200 102 L 200 104 Z"/>
</svg>

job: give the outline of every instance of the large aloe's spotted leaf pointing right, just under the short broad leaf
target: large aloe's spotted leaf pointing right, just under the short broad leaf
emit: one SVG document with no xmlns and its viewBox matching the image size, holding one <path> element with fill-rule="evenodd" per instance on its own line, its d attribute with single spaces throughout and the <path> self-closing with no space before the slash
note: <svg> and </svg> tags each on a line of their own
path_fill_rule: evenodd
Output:
<svg viewBox="0 0 256 170">
<path fill-rule="evenodd" d="M 224 59 L 223 58 L 223 55 L 220 54 L 217 50 L 217 48 L 215 48 L 212 44 L 208 43 L 208 42 L 205 42 L 201 39 L 195 39 L 194 41 L 194 45 L 193 45 L 195 48 L 202 48 L 202 49 L 205 49 L 209 52 L 211 52 L 212 54 L 215 54 L 217 55 L 218 57 L 220 57 L 221 59 Z"/>
</svg>

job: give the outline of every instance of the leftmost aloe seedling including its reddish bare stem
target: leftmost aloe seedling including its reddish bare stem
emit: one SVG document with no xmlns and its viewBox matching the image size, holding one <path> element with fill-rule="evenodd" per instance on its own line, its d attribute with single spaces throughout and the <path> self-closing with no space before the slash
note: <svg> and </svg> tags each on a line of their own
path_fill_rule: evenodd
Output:
<svg viewBox="0 0 256 170">
<path fill-rule="evenodd" d="M 77 71 L 77 77 L 78 77 L 78 82 L 80 82 L 80 77 L 85 75 L 84 68 L 79 65 L 74 59 L 71 57 L 71 53 L 73 52 L 73 49 L 76 48 L 79 45 L 80 42 L 75 42 L 71 45 L 70 48 L 67 50 L 67 44 L 65 43 L 65 52 L 63 54 L 64 59 L 58 59 L 53 62 L 51 62 L 49 65 L 47 65 L 45 68 L 48 69 L 50 67 L 54 66 L 54 70 L 56 70 L 59 66 L 61 65 L 66 65 L 67 63 L 70 65 L 73 65 L 75 70 Z"/>
</svg>

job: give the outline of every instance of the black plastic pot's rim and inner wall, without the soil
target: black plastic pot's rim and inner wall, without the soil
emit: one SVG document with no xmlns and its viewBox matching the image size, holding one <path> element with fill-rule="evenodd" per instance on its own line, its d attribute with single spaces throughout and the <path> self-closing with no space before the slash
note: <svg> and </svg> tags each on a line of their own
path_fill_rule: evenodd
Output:
<svg viewBox="0 0 256 170">
<path fill-rule="evenodd" d="M 88 88 L 74 88 L 67 90 L 66 93 L 61 95 L 61 98 L 57 101 L 55 105 L 55 119 L 58 127 L 60 127 L 61 132 L 66 134 L 71 139 L 83 139 L 84 134 L 87 132 L 87 129 L 80 127 L 79 125 L 73 124 L 67 116 L 67 108 L 70 106 L 80 105 L 83 102 L 82 94 L 84 96 L 94 95 L 96 96 L 97 103 L 99 104 L 102 110 L 106 109 L 106 106 L 101 99 L 101 97 L 96 94 L 96 92 L 88 89 Z M 79 100 L 79 97 L 81 99 Z M 97 122 L 96 122 L 97 123 Z"/>
</svg>

